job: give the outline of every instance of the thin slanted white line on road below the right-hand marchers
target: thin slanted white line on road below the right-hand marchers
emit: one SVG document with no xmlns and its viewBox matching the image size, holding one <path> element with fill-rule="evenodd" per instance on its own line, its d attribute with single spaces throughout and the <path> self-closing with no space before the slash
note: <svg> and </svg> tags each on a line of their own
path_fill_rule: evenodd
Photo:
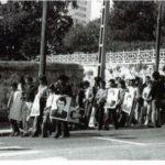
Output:
<svg viewBox="0 0 165 165">
<path fill-rule="evenodd" d="M 145 143 L 138 143 L 138 142 L 131 142 L 131 141 L 121 141 L 121 140 L 116 140 L 116 139 L 110 139 L 110 138 L 94 138 L 98 140 L 105 140 L 105 141 L 111 141 L 111 142 L 118 142 L 118 143 L 125 143 L 125 144 L 132 144 L 132 145 L 141 145 L 144 146 L 146 145 Z"/>
</svg>

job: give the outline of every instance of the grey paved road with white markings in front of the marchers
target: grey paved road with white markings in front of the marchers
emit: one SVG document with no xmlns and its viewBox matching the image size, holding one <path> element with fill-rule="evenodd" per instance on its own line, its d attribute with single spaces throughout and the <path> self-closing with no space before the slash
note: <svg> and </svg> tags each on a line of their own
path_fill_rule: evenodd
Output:
<svg viewBox="0 0 165 165">
<path fill-rule="evenodd" d="M 165 160 L 165 127 L 73 131 L 58 140 L 0 138 L 0 160 Z"/>
</svg>

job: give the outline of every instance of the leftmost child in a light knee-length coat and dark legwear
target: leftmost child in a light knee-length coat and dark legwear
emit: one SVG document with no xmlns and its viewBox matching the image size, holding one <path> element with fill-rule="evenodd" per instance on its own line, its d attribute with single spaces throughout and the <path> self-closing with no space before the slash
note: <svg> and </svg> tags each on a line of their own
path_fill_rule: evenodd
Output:
<svg viewBox="0 0 165 165">
<path fill-rule="evenodd" d="M 18 84 L 11 85 L 12 91 L 8 101 L 9 120 L 12 128 L 11 136 L 20 135 L 19 123 L 21 121 L 21 109 L 22 109 L 22 92 L 18 90 Z"/>
</svg>

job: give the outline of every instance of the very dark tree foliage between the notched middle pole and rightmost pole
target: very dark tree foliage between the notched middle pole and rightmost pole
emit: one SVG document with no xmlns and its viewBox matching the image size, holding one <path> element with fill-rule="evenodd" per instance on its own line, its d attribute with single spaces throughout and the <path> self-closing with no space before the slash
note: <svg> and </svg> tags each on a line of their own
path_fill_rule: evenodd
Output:
<svg viewBox="0 0 165 165">
<path fill-rule="evenodd" d="M 112 37 L 120 41 L 155 40 L 157 4 L 153 1 L 114 1 L 109 16 Z"/>
</svg>

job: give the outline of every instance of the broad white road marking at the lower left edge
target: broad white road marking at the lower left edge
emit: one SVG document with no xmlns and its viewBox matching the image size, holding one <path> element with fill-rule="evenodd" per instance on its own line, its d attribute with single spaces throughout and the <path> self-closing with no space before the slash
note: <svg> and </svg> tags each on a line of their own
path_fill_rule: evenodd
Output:
<svg viewBox="0 0 165 165">
<path fill-rule="evenodd" d="M 41 151 L 23 151 L 23 152 L 14 152 L 14 153 L 0 153 L 0 157 L 31 155 L 31 154 L 38 154 L 38 153 L 42 153 L 42 152 Z"/>
</svg>

